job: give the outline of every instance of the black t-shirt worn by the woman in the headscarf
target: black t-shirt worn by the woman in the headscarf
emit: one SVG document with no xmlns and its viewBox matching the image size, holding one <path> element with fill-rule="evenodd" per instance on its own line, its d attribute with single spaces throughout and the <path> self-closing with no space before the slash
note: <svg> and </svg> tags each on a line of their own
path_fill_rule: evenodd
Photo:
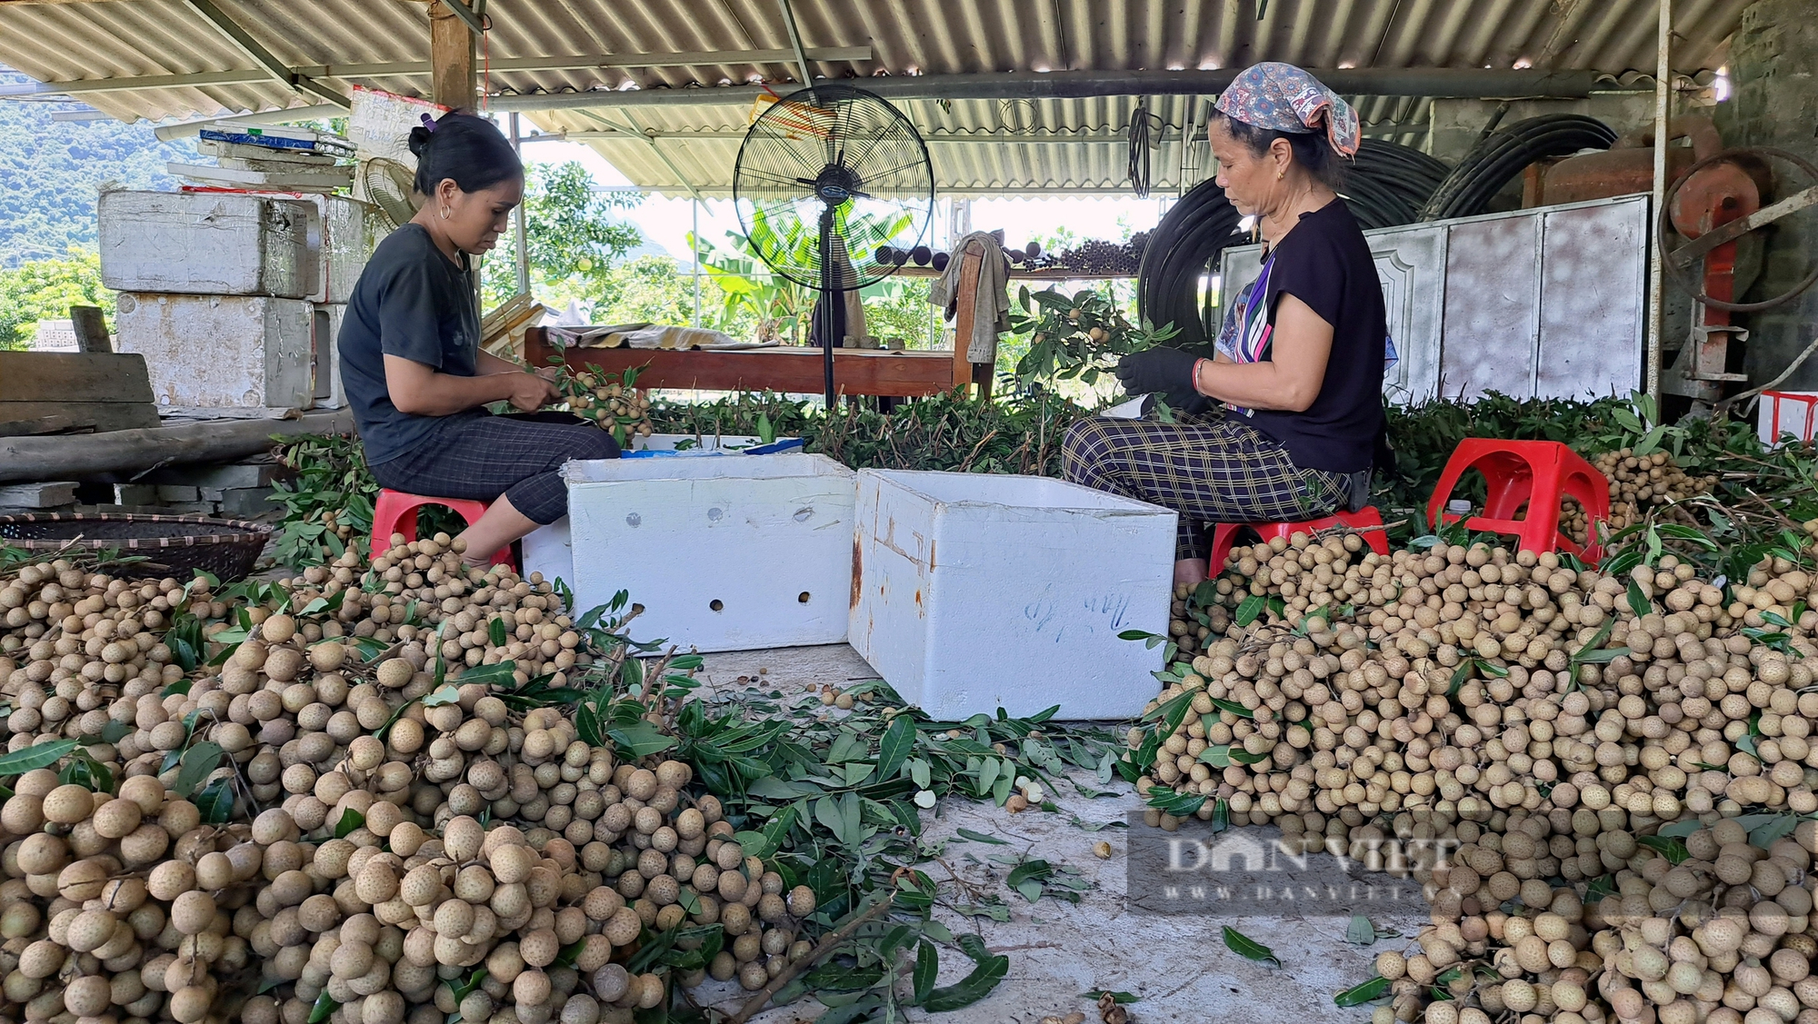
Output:
<svg viewBox="0 0 1818 1024">
<path fill-rule="evenodd" d="M 1367 470 L 1382 428 L 1389 320 L 1369 241 L 1342 200 L 1302 214 L 1274 247 L 1264 296 L 1271 327 L 1282 294 L 1333 325 L 1333 354 L 1320 396 L 1305 412 L 1258 409 L 1251 423 L 1287 448 L 1300 468 Z"/>
</svg>

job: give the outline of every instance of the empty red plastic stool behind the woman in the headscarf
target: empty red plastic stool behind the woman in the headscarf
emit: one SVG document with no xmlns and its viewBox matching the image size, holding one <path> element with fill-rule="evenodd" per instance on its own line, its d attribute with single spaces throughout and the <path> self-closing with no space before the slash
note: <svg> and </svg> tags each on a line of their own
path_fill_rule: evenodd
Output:
<svg viewBox="0 0 1818 1024">
<path fill-rule="evenodd" d="M 1493 438 L 1465 438 L 1453 458 L 1445 461 L 1440 485 L 1427 501 L 1429 523 L 1456 523 L 1460 516 L 1445 514 L 1445 503 L 1465 470 L 1476 468 L 1489 483 L 1483 514 L 1465 519 L 1467 530 L 1514 534 L 1522 550 L 1563 550 L 1596 561 L 1602 548 L 1596 541 L 1598 523 L 1609 523 L 1609 479 L 1578 452 L 1558 441 L 1498 441 Z M 1589 543 L 1560 532 L 1560 497 L 1576 497 L 1591 521 Z M 1527 516 L 1516 519 L 1516 510 L 1527 505 Z"/>
</svg>

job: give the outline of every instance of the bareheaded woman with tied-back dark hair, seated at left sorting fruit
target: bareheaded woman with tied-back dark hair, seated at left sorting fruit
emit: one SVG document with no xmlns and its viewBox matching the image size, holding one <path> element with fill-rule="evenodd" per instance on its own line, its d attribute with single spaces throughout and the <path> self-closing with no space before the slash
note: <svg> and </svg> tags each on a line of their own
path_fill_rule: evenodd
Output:
<svg viewBox="0 0 1818 1024">
<path fill-rule="evenodd" d="M 462 532 L 469 565 L 567 514 L 562 463 L 614 459 L 596 427 L 489 416 L 509 401 L 536 412 L 556 399 L 554 370 L 529 372 L 480 350 L 469 256 L 498 243 L 524 202 L 524 165 L 487 120 L 424 118 L 411 131 L 411 223 L 385 236 L 347 303 L 342 383 L 378 483 L 391 490 L 491 501 Z"/>
</svg>

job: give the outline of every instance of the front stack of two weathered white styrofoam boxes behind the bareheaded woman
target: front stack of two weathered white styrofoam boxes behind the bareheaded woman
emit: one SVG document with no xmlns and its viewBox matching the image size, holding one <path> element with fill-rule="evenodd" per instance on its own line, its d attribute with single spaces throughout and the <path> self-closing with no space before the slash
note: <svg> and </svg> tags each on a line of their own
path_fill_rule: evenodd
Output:
<svg viewBox="0 0 1818 1024">
<path fill-rule="evenodd" d="M 309 409 L 322 214 L 247 192 L 102 192 L 102 281 L 160 409 Z"/>
</svg>

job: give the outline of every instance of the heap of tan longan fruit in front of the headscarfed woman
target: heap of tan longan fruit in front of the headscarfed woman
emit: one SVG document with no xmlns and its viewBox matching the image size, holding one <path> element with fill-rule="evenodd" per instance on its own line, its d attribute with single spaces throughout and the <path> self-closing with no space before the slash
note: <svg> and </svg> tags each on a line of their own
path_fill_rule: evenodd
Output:
<svg viewBox="0 0 1818 1024">
<path fill-rule="evenodd" d="M 1220 608 L 1262 596 L 1285 615 L 1202 626 L 1149 704 L 1189 710 L 1138 792 L 1200 795 L 1202 819 L 1222 802 L 1291 852 L 1449 850 L 1387 864 L 1425 886 L 1433 924 L 1378 962 L 1378 1024 L 1818 1022 L 1818 826 L 1751 846 L 1743 822 L 1765 819 L 1742 817 L 1818 812 L 1818 577 L 1771 557 L 1725 588 L 1671 554 L 1611 576 L 1356 541 L 1233 552 Z M 1662 830 L 1683 821 L 1676 866 Z"/>
</svg>

